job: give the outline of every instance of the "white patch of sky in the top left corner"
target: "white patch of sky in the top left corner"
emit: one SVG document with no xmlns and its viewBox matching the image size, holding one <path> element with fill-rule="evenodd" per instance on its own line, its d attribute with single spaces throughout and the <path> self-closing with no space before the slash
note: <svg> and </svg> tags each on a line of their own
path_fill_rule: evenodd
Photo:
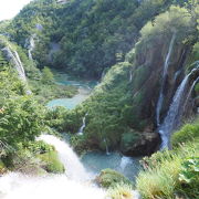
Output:
<svg viewBox="0 0 199 199">
<path fill-rule="evenodd" d="M 0 21 L 12 19 L 31 0 L 0 0 Z"/>
</svg>

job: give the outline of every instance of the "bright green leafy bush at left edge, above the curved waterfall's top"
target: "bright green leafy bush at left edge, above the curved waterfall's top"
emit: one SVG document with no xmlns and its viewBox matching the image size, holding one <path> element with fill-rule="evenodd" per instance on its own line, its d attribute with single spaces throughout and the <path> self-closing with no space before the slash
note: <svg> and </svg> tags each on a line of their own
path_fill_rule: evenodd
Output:
<svg viewBox="0 0 199 199">
<path fill-rule="evenodd" d="M 33 140 L 44 129 L 42 107 L 31 96 L 9 98 L 1 107 L 0 139 L 9 145 Z"/>
</svg>

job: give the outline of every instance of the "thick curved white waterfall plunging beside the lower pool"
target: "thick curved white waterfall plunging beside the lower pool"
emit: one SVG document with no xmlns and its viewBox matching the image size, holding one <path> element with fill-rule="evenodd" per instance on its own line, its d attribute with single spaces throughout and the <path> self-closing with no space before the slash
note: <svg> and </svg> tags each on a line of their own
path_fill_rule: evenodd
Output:
<svg viewBox="0 0 199 199">
<path fill-rule="evenodd" d="M 73 180 L 88 179 L 90 176 L 86 174 L 78 157 L 65 142 L 62 142 L 52 135 L 42 135 L 39 139 L 55 147 L 69 178 Z"/>
</svg>

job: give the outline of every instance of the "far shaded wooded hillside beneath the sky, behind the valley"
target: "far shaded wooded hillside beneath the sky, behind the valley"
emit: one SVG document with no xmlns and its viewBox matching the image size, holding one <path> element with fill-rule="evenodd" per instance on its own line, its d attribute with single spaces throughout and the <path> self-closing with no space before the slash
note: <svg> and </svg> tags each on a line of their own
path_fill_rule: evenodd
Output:
<svg viewBox="0 0 199 199">
<path fill-rule="evenodd" d="M 11 24 L 12 40 L 28 48 L 38 65 L 67 70 L 78 76 L 101 77 L 134 46 L 143 25 L 174 0 L 38 0 L 28 4 Z M 54 45 L 57 46 L 53 50 Z"/>
</svg>

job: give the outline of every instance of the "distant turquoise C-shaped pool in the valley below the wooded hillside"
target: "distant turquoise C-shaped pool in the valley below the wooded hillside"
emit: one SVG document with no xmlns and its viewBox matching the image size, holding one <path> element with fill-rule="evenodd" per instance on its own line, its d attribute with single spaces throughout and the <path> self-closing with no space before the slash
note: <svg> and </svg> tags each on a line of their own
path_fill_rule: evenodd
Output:
<svg viewBox="0 0 199 199">
<path fill-rule="evenodd" d="M 78 88 L 78 93 L 71 98 L 54 98 L 46 104 L 50 108 L 57 106 L 63 106 L 69 109 L 75 108 L 76 105 L 81 104 L 90 96 L 92 90 L 97 84 L 96 81 L 78 80 L 60 72 L 54 72 L 54 78 L 56 84 L 76 86 Z"/>
</svg>

